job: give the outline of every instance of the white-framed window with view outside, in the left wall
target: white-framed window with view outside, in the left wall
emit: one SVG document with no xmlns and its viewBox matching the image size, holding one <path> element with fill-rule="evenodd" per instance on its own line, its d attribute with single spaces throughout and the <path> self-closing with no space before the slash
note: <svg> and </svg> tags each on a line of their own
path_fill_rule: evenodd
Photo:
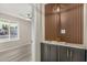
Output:
<svg viewBox="0 0 87 65">
<path fill-rule="evenodd" d="M 19 39 L 19 23 L 0 18 L 0 42 Z"/>
</svg>

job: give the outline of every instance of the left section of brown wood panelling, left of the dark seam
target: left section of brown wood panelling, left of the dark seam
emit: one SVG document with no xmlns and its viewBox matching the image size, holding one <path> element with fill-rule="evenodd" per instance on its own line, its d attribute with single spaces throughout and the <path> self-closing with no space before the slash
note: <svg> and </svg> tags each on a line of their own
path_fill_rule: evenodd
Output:
<svg viewBox="0 0 87 65">
<path fill-rule="evenodd" d="M 55 13 L 57 4 L 45 6 L 45 40 L 59 41 L 59 14 Z"/>
</svg>

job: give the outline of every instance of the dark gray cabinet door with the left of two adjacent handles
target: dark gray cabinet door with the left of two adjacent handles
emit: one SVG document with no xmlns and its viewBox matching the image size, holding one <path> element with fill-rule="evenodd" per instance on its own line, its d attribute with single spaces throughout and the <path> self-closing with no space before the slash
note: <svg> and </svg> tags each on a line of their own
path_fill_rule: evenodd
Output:
<svg viewBox="0 0 87 65">
<path fill-rule="evenodd" d="M 68 47 L 59 46 L 59 62 L 68 62 L 69 51 Z"/>
</svg>

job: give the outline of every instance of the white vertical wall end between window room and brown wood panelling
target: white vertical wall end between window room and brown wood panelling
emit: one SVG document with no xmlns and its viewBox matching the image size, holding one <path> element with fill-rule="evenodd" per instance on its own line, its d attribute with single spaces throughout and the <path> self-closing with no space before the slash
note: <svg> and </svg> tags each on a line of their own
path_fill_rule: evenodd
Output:
<svg viewBox="0 0 87 65">
<path fill-rule="evenodd" d="M 44 4 L 33 4 L 32 61 L 41 61 L 41 42 L 44 39 Z"/>
</svg>

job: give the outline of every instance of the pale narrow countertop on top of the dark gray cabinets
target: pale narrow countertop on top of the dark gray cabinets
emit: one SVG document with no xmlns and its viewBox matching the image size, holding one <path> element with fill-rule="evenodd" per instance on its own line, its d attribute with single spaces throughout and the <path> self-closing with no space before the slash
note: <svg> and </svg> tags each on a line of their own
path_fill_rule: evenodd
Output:
<svg viewBox="0 0 87 65">
<path fill-rule="evenodd" d="M 66 42 L 57 42 L 57 41 L 43 41 L 44 44 L 53 44 L 53 45 L 62 45 L 62 46 L 69 46 L 69 47 L 76 47 L 76 48 L 86 48 L 84 44 L 72 44 Z"/>
</svg>

